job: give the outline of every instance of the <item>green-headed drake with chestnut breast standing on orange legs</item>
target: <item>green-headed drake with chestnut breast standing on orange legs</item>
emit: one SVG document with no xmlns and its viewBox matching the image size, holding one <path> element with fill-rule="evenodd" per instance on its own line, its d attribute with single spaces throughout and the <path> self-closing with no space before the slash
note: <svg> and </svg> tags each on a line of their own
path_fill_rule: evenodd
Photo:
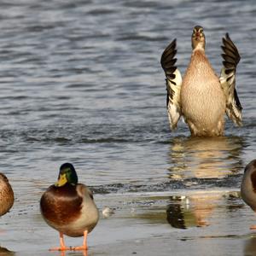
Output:
<svg viewBox="0 0 256 256">
<path fill-rule="evenodd" d="M 96 226 L 99 212 L 93 195 L 70 163 L 61 166 L 57 183 L 49 186 L 40 201 L 40 210 L 49 226 L 60 233 L 61 247 L 50 250 L 86 250 L 87 235 Z M 63 235 L 84 236 L 81 247 L 66 247 Z"/>
</svg>

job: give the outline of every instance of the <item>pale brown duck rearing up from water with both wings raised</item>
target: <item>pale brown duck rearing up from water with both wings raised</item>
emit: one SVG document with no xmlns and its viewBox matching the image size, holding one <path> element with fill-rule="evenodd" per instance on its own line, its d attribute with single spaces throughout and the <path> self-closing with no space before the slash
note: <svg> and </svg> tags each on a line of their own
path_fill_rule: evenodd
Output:
<svg viewBox="0 0 256 256">
<path fill-rule="evenodd" d="M 192 55 L 182 78 L 175 63 L 176 39 L 161 55 L 166 73 L 167 112 L 171 130 L 176 129 L 181 116 L 189 125 L 192 136 L 224 135 L 224 113 L 242 125 L 241 103 L 236 92 L 236 66 L 240 55 L 226 33 L 223 38 L 223 67 L 218 77 L 205 53 L 206 38 L 201 26 L 192 33 Z"/>
</svg>

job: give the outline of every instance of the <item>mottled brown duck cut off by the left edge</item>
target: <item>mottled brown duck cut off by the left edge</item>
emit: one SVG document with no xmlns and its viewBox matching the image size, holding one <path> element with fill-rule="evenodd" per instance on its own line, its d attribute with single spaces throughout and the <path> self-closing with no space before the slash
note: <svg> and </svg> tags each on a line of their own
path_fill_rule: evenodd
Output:
<svg viewBox="0 0 256 256">
<path fill-rule="evenodd" d="M 14 191 L 8 178 L 0 172 L 0 216 L 3 216 L 13 207 L 15 201 Z"/>
</svg>

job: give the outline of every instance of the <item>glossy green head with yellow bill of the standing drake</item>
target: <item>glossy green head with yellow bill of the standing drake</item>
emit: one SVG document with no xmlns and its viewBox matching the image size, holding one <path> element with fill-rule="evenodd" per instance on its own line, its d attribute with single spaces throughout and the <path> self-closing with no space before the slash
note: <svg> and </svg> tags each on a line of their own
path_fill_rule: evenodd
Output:
<svg viewBox="0 0 256 256">
<path fill-rule="evenodd" d="M 76 185 L 79 182 L 77 172 L 72 164 L 65 163 L 61 166 L 56 187 L 64 186 L 66 183 Z"/>
</svg>

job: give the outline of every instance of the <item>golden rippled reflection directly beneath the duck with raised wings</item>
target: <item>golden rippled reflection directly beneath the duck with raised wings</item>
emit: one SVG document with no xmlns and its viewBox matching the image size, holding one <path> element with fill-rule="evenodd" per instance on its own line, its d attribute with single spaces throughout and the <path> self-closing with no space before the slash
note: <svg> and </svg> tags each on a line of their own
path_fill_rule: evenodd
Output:
<svg viewBox="0 0 256 256">
<path fill-rule="evenodd" d="M 175 137 L 170 148 L 170 178 L 225 177 L 242 169 L 241 137 Z"/>
</svg>

